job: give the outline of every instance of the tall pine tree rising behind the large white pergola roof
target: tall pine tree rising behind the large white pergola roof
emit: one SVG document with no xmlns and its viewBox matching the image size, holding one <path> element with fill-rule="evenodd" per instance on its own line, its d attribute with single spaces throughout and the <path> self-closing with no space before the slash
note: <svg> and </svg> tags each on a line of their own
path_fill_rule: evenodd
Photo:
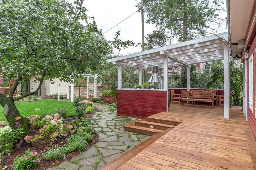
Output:
<svg viewBox="0 0 256 170">
<path fill-rule="evenodd" d="M 205 35 L 205 28 L 210 23 L 220 26 L 216 11 L 223 4 L 220 0 L 144 0 L 147 12 L 147 23 L 156 25 L 157 30 L 147 35 L 148 48 L 165 46 L 172 43 L 173 38 L 178 41 L 188 41 Z M 140 4 L 137 5 L 140 7 Z M 214 30 L 214 29 L 213 29 Z M 185 74 L 185 67 L 181 68 L 181 75 Z M 186 82 L 180 78 L 181 87 Z"/>
</svg>

